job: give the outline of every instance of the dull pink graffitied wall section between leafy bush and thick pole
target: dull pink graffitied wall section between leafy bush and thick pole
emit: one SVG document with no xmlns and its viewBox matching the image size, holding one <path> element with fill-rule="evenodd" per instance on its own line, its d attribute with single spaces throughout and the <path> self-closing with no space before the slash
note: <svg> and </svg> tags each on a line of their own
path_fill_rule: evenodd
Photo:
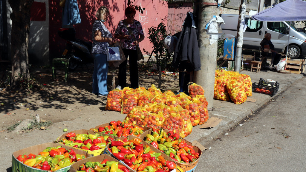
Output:
<svg viewBox="0 0 306 172">
<path fill-rule="evenodd" d="M 182 24 L 185 20 L 186 13 L 193 12 L 192 3 L 184 3 L 181 6 L 170 4 L 168 8 L 167 30 L 170 34 L 175 34 L 182 30 Z"/>
</svg>

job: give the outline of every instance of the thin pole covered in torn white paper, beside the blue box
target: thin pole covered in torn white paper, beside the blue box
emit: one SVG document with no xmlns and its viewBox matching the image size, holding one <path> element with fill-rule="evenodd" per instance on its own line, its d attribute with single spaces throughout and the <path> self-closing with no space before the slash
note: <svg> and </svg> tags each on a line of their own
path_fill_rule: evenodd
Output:
<svg viewBox="0 0 306 172">
<path fill-rule="evenodd" d="M 237 26 L 237 48 L 236 48 L 236 58 L 234 71 L 240 73 L 241 68 L 241 54 L 242 54 L 242 43 L 243 43 L 243 27 L 245 23 L 245 12 L 246 5 L 245 0 L 241 0 L 241 5 L 239 9 L 238 26 Z"/>
</svg>

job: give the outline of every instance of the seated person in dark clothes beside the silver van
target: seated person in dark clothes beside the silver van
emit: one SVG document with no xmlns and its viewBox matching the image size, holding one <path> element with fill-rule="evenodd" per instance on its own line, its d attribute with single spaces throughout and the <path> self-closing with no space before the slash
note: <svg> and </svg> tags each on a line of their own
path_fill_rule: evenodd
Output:
<svg viewBox="0 0 306 172">
<path fill-rule="evenodd" d="M 272 67 L 273 67 L 274 65 L 277 65 L 277 63 L 281 60 L 282 55 L 278 54 L 278 52 L 276 52 L 274 50 L 274 45 L 271 42 L 271 38 L 272 38 L 271 34 L 266 33 L 263 40 L 260 42 L 260 46 L 261 46 L 261 53 L 266 53 L 266 52 L 263 51 L 265 48 L 271 50 L 272 56 L 271 56 L 270 53 L 267 53 L 267 56 L 271 56 L 272 58 L 274 57 L 274 61 L 273 61 L 273 64 L 272 64 Z M 264 64 L 264 66 L 265 66 L 265 64 Z"/>
</svg>

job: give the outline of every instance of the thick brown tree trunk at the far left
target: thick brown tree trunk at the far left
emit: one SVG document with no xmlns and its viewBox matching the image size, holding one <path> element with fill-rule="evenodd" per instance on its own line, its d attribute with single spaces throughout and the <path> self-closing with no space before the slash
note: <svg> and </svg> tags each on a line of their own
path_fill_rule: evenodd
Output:
<svg viewBox="0 0 306 172">
<path fill-rule="evenodd" d="M 17 84 L 18 78 L 29 79 L 28 43 L 30 34 L 30 8 L 34 0 L 9 0 L 12 8 L 12 78 L 11 85 Z M 17 76 L 17 77 L 16 77 Z"/>
</svg>

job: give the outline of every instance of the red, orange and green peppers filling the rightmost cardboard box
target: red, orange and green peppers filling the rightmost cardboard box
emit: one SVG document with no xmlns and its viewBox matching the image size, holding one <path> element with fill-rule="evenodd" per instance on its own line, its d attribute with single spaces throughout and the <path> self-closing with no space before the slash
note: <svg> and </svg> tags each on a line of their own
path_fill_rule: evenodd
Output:
<svg viewBox="0 0 306 172">
<path fill-rule="evenodd" d="M 147 134 L 145 141 L 170 156 L 179 163 L 192 163 L 199 158 L 192 145 L 188 145 L 173 131 L 165 132 L 163 129 L 152 128 L 152 134 Z M 157 145 L 156 145 L 157 144 Z"/>
</svg>

